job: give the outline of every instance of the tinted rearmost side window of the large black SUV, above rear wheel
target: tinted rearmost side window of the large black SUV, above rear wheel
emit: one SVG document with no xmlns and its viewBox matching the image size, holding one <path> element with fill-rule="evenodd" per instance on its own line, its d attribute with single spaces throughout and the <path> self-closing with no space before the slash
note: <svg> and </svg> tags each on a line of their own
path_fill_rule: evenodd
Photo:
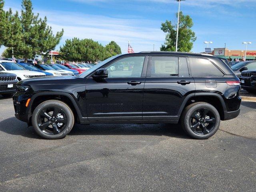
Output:
<svg viewBox="0 0 256 192">
<path fill-rule="evenodd" d="M 193 77 L 223 77 L 223 73 L 207 59 L 188 58 Z"/>
</svg>

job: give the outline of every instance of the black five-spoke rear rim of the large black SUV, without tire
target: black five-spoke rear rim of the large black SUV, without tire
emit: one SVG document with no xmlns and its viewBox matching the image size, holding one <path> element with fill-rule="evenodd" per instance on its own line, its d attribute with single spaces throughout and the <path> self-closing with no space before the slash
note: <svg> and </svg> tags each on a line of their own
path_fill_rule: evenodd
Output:
<svg viewBox="0 0 256 192">
<path fill-rule="evenodd" d="M 216 126 L 216 116 L 211 110 L 201 108 L 191 114 L 189 122 L 194 133 L 206 135 Z"/>
</svg>

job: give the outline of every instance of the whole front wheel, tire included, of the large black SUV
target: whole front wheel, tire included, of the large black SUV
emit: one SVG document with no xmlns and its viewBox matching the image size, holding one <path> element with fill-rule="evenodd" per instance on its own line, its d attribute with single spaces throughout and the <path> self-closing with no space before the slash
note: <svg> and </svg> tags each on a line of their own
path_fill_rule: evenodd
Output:
<svg viewBox="0 0 256 192">
<path fill-rule="evenodd" d="M 66 103 L 47 100 L 35 108 L 32 126 L 42 138 L 64 138 L 74 126 L 74 114 Z"/>
</svg>

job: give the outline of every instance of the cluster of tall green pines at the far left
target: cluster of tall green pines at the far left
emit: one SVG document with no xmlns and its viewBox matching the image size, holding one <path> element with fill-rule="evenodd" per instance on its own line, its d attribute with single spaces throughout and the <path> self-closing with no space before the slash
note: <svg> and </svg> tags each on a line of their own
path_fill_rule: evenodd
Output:
<svg viewBox="0 0 256 192">
<path fill-rule="evenodd" d="M 14 47 L 25 62 L 36 54 L 49 52 L 60 42 L 63 29 L 52 33 L 52 28 L 47 25 L 47 18 L 39 18 L 34 14 L 31 0 L 22 0 L 21 16 L 18 12 L 12 14 L 12 10 L 4 11 L 3 0 L 0 0 L 0 33 L 2 42 L 6 47 Z"/>
</svg>

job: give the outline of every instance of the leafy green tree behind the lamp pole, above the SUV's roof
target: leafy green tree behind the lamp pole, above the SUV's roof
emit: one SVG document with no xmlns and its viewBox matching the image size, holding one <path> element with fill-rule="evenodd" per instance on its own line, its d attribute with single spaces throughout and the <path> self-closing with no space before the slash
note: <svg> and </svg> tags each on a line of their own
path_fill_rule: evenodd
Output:
<svg viewBox="0 0 256 192">
<path fill-rule="evenodd" d="M 178 18 L 178 13 L 176 13 Z M 193 43 L 196 40 L 196 34 L 192 31 L 193 21 L 189 15 L 184 15 L 180 12 L 180 24 L 178 32 L 178 51 L 190 52 L 193 48 Z M 161 51 L 175 51 L 177 24 L 172 24 L 166 20 L 162 23 L 161 30 L 166 33 L 164 45 L 160 47 Z"/>
</svg>

